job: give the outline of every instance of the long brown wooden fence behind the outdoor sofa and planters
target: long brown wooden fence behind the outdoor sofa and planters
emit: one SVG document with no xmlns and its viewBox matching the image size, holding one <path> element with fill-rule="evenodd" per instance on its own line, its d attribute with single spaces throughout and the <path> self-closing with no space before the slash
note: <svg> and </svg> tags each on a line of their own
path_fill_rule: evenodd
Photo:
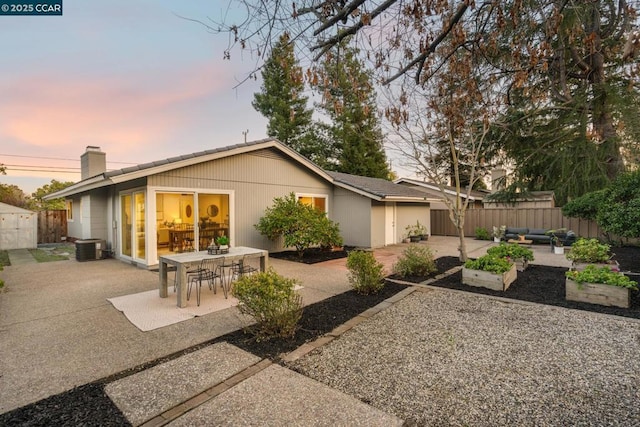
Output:
<svg viewBox="0 0 640 427">
<path fill-rule="evenodd" d="M 527 227 L 573 230 L 579 237 L 602 237 L 602 231 L 593 221 L 567 218 L 560 208 L 503 208 L 469 209 L 464 222 L 464 235 L 475 236 L 476 227 L 483 227 L 489 233 L 493 226 Z M 457 236 L 458 232 L 449 219 L 446 209 L 431 210 L 431 234 L 435 236 Z"/>
</svg>

